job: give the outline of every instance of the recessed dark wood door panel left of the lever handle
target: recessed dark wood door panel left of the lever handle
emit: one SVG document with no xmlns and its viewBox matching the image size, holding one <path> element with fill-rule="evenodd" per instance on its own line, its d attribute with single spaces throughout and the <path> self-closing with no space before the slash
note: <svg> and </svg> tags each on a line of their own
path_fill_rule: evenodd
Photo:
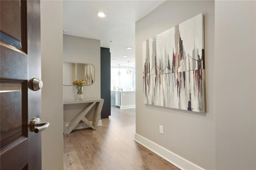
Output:
<svg viewBox="0 0 256 170">
<path fill-rule="evenodd" d="M 1 149 L 16 140 L 28 137 L 27 133 L 27 81 L 1 79 Z"/>
</svg>

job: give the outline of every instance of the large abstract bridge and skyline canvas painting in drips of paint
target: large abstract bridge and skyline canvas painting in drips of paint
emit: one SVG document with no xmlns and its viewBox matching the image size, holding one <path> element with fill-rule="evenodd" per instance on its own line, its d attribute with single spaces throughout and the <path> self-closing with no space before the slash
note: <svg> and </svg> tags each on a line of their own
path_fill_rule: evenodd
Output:
<svg viewBox="0 0 256 170">
<path fill-rule="evenodd" d="M 206 112 L 203 14 L 142 43 L 144 103 Z"/>
</svg>

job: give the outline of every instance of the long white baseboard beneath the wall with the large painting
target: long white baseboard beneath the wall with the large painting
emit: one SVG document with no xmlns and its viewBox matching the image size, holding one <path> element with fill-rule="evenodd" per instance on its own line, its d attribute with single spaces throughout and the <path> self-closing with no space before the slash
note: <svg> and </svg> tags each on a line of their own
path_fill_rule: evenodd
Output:
<svg viewBox="0 0 256 170">
<path fill-rule="evenodd" d="M 140 136 L 139 134 L 135 133 L 134 140 L 182 170 L 204 170 L 200 166 L 193 164 L 192 162 L 178 156 L 177 154 L 152 142 L 151 140 Z"/>
</svg>

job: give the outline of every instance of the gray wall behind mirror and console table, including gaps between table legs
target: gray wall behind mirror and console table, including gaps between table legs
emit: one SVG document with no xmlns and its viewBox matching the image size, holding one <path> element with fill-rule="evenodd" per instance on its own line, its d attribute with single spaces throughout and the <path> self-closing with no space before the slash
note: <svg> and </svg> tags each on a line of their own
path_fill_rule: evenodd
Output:
<svg viewBox="0 0 256 170">
<path fill-rule="evenodd" d="M 83 87 L 83 95 L 84 99 L 100 99 L 100 40 L 64 34 L 63 62 L 92 64 L 95 69 L 95 81 L 92 85 Z M 63 85 L 63 100 L 76 99 L 76 86 Z M 66 123 L 68 124 L 72 121 L 85 107 L 86 104 L 64 105 L 64 119 Z M 89 121 L 92 121 L 94 108 L 87 115 Z M 75 129 L 87 127 L 85 123 L 79 123 Z"/>
</svg>

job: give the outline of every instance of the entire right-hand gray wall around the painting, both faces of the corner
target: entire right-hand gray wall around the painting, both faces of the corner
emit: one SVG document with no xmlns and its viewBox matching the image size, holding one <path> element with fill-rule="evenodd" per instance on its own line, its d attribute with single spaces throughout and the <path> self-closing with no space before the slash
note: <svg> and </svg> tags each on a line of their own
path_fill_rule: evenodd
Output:
<svg viewBox="0 0 256 170">
<path fill-rule="evenodd" d="M 142 42 L 200 13 L 207 113 L 145 105 Z M 255 169 L 255 63 L 255 1 L 162 3 L 136 22 L 136 134 L 204 169 Z"/>
</svg>

